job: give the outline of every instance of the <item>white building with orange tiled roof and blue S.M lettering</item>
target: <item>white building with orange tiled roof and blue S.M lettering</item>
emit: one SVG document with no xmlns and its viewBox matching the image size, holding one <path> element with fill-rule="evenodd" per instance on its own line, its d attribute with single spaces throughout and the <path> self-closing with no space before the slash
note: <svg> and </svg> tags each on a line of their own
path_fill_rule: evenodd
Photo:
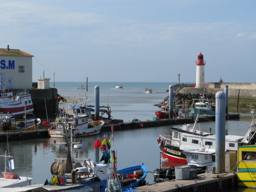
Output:
<svg viewBox="0 0 256 192">
<path fill-rule="evenodd" d="M 9 45 L 0 49 L 0 89 L 32 89 L 32 57 Z"/>
</svg>

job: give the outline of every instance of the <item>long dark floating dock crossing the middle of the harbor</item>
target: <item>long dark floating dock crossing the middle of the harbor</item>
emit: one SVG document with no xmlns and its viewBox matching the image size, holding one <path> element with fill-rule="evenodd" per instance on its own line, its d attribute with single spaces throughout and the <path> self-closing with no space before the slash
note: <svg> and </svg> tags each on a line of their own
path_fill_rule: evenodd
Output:
<svg viewBox="0 0 256 192">
<path fill-rule="evenodd" d="M 239 114 L 229 114 L 228 119 L 239 119 Z M 215 121 L 215 115 L 199 117 L 198 122 L 209 122 Z M 167 126 L 167 125 L 178 125 L 178 124 L 194 124 L 194 118 L 180 118 L 180 119 L 161 119 L 161 120 L 147 120 L 138 122 L 124 122 L 113 124 L 114 131 L 125 131 L 130 129 L 142 129 L 147 127 L 157 127 L 157 126 Z M 103 125 L 100 132 L 110 132 L 111 125 Z M 8 141 L 19 141 L 26 139 L 36 139 L 36 138 L 47 138 L 47 129 L 37 129 L 33 131 L 19 131 L 19 132 L 1 132 L 0 142 Z"/>
</svg>

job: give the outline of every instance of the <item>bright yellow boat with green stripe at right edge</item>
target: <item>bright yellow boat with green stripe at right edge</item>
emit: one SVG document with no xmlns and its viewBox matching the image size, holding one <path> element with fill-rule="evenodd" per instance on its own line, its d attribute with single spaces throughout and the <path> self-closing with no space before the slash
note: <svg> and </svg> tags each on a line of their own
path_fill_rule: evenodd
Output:
<svg viewBox="0 0 256 192">
<path fill-rule="evenodd" d="M 237 157 L 238 186 L 256 189 L 256 145 L 239 146 Z"/>
</svg>

